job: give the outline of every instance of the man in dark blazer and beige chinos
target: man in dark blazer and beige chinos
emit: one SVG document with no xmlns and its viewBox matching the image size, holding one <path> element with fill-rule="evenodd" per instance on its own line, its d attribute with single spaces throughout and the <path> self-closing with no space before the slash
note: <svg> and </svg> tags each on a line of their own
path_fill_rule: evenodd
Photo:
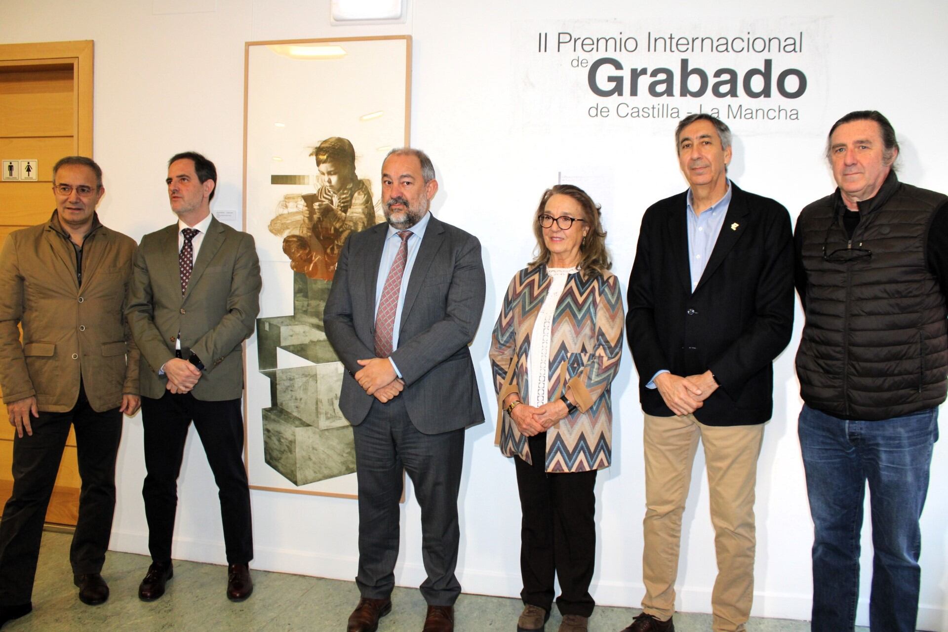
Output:
<svg viewBox="0 0 948 632">
<path fill-rule="evenodd" d="M 731 131 L 706 114 L 675 130 L 688 190 L 648 208 L 626 331 L 645 411 L 642 614 L 627 632 L 675 629 L 682 514 L 704 445 L 718 578 L 715 632 L 743 630 L 754 596 L 754 498 L 773 361 L 793 327 L 790 215 L 727 178 Z"/>
</svg>

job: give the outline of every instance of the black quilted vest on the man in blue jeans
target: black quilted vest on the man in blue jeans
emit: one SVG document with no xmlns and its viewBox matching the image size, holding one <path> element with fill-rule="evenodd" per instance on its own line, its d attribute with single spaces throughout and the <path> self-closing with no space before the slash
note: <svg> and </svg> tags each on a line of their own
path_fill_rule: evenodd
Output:
<svg viewBox="0 0 948 632">
<path fill-rule="evenodd" d="M 812 408 L 884 420 L 945 400 L 945 300 L 925 262 L 928 228 L 945 200 L 890 173 L 860 203 L 851 243 L 838 191 L 800 213 L 807 289 L 796 373 Z"/>
</svg>

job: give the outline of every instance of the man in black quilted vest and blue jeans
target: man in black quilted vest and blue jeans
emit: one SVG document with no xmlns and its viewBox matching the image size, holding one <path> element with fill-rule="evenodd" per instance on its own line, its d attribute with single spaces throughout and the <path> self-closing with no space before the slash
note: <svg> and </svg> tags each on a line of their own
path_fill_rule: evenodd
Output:
<svg viewBox="0 0 948 632">
<path fill-rule="evenodd" d="M 880 113 L 840 118 L 827 141 L 838 188 L 796 223 L 816 632 L 855 623 L 866 482 L 870 629 L 914 630 L 919 609 L 919 519 L 948 390 L 948 197 L 899 182 L 898 155 Z"/>
</svg>

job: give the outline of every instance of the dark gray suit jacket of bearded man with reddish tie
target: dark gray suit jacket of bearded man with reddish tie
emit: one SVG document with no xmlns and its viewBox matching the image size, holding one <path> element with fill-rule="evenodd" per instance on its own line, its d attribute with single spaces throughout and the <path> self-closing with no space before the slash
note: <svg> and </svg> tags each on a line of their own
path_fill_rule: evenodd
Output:
<svg viewBox="0 0 948 632">
<path fill-rule="evenodd" d="M 388 228 L 378 224 L 353 233 L 342 246 L 323 314 L 326 336 L 346 368 L 339 408 L 353 425 L 362 423 L 374 401 L 353 374 L 361 369 L 356 360 L 375 356 L 375 287 Z M 483 262 L 476 237 L 434 216 L 419 247 L 392 360 L 405 381 L 398 397 L 411 423 L 438 434 L 483 422 L 467 348 L 483 312 Z"/>
</svg>

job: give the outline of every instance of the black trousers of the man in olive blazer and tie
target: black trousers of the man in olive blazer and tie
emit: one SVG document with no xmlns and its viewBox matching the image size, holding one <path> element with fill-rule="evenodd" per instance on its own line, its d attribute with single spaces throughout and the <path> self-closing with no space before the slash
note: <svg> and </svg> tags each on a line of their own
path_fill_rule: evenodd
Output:
<svg viewBox="0 0 948 632">
<path fill-rule="evenodd" d="M 193 422 L 217 483 L 228 564 L 248 563 L 253 559 L 253 529 L 243 459 L 241 401 L 203 402 L 191 393 L 167 391 L 161 399 L 141 398 L 141 421 L 148 472 L 141 495 L 145 498 L 152 559 L 158 563 L 172 559 L 177 478 L 188 426 Z"/>
</svg>

